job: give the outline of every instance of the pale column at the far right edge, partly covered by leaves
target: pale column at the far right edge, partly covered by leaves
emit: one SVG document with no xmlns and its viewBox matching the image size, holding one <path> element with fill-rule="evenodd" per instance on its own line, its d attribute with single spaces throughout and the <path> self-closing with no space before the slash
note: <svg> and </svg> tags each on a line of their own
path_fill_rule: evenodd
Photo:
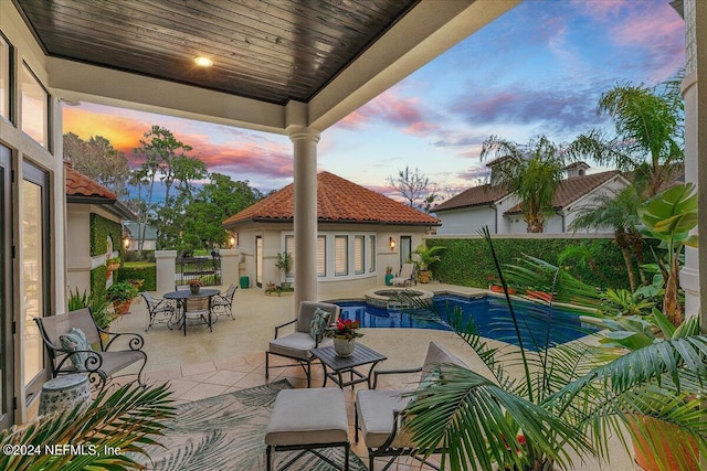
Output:
<svg viewBox="0 0 707 471">
<path fill-rule="evenodd" d="M 686 45 L 685 78 L 682 85 L 682 95 L 685 100 L 685 182 L 698 185 L 697 44 L 695 35 L 697 25 L 694 0 L 686 0 L 683 3 L 683 17 L 685 19 Z M 685 248 L 685 266 L 680 270 L 680 286 L 685 290 L 685 315 L 694 315 L 699 312 L 699 254 L 696 248 Z"/>
</svg>

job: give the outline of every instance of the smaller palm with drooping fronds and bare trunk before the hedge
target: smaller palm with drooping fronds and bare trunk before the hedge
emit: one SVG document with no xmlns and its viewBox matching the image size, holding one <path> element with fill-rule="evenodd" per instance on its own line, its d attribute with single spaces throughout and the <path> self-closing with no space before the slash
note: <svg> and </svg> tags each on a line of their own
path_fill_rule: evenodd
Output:
<svg viewBox="0 0 707 471">
<path fill-rule="evenodd" d="M 578 210 L 578 216 L 570 223 L 568 228 L 577 232 L 581 229 L 600 229 L 612 227 L 614 240 L 629 274 L 631 290 L 635 291 L 637 286 L 635 269 L 631 255 L 636 258 L 641 283 L 647 285 L 645 274 L 640 268 L 643 264 L 643 236 L 636 229 L 641 223 L 639 218 L 639 207 L 641 197 L 635 186 L 631 185 L 620 192 L 609 194 L 598 194 L 590 204 Z"/>
</svg>

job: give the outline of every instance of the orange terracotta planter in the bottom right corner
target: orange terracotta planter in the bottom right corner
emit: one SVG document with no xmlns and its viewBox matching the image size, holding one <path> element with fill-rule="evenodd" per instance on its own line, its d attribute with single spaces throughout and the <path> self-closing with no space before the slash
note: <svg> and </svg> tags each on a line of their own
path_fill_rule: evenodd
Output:
<svg viewBox="0 0 707 471">
<path fill-rule="evenodd" d="M 643 424 L 642 428 L 655 427 L 657 429 L 656 433 L 661 437 L 657 447 L 657 457 L 651 451 L 651 448 L 645 440 L 644 431 L 640 430 L 640 427 L 636 425 L 637 421 Z M 672 424 L 657 422 L 657 420 L 652 417 L 645 416 L 632 416 L 629 421 L 629 426 L 636 436 L 633 442 L 633 452 L 636 463 L 639 463 L 639 465 L 645 471 L 659 471 L 661 469 L 699 471 L 699 458 L 689 459 L 689 453 L 687 452 L 687 450 L 692 449 L 693 456 L 699 457 L 697 443 L 690 437 L 683 433 L 676 426 Z M 679 447 L 676 447 L 676 443 L 682 443 L 682 447 L 685 447 L 685 449 L 680 450 Z M 675 459 L 676 454 L 685 457 L 687 462 L 683 463 L 683 467 L 678 465 L 678 462 Z M 658 463 L 662 463 L 663 468 L 661 468 Z"/>
</svg>

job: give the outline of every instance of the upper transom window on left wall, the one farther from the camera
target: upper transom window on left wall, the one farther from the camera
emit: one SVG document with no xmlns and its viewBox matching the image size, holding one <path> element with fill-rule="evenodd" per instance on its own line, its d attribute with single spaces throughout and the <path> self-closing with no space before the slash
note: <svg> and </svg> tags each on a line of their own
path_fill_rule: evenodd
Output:
<svg viewBox="0 0 707 471">
<path fill-rule="evenodd" d="M 22 65 L 22 131 L 40 146 L 49 146 L 49 94 L 32 71 Z"/>
</svg>

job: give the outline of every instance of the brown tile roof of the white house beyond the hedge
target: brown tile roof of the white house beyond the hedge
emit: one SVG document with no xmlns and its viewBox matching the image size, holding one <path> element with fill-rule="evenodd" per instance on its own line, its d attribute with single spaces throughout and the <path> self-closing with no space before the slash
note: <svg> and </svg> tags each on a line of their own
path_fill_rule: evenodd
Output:
<svg viewBox="0 0 707 471">
<path fill-rule="evenodd" d="M 579 200 L 598 186 L 611 180 L 619 172 L 611 170 L 608 172 L 592 173 L 590 175 L 572 176 L 562 180 L 552 196 L 552 206 L 561 208 Z M 445 201 L 434 208 L 435 212 L 457 210 L 461 207 L 482 206 L 493 204 L 508 195 L 508 191 L 503 186 L 481 185 L 473 186 L 456 196 Z M 520 212 L 520 205 L 509 208 L 506 213 Z"/>
</svg>

